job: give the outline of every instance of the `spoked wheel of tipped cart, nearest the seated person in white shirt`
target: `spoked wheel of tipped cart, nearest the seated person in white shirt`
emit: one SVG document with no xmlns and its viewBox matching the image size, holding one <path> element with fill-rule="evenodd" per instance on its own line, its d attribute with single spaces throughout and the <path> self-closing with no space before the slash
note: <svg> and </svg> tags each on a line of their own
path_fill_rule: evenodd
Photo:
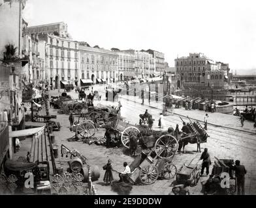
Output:
<svg viewBox="0 0 256 208">
<path fill-rule="evenodd" d="M 152 183 L 155 183 L 159 175 L 159 172 L 157 170 L 157 167 L 153 164 L 150 164 L 148 166 L 144 166 L 140 169 L 140 182 L 144 185 L 150 185 Z"/>
</svg>

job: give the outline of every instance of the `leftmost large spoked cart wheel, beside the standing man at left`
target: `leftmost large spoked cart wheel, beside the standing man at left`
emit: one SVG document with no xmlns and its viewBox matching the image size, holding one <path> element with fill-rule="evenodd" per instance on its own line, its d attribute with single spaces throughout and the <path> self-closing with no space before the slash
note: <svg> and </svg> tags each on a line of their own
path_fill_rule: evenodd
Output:
<svg viewBox="0 0 256 208">
<path fill-rule="evenodd" d="M 76 127 L 76 136 L 80 138 L 91 138 L 95 135 L 96 129 L 91 122 L 82 122 Z"/>
</svg>

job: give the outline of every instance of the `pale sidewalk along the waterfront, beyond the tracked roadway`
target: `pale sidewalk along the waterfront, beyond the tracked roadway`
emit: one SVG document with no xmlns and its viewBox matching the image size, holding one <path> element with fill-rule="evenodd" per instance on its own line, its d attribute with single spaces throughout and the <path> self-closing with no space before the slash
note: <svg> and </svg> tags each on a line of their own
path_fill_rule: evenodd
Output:
<svg viewBox="0 0 256 208">
<path fill-rule="evenodd" d="M 133 96 L 122 95 L 120 96 L 121 99 L 126 99 L 129 101 L 135 101 L 136 103 L 142 103 L 142 99 Z M 163 102 L 156 103 L 155 101 L 151 101 L 150 105 L 148 104 L 148 100 L 144 100 L 144 105 L 148 105 L 152 108 L 163 110 Z M 198 122 L 204 123 L 204 116 L 208 113 L 208 125 L 216 125 L 217 127 L 225 127 L 229 129 L 245 131 L 248 133 L 255 134 L 256 129 L 253 127 L 253 122 L 245 121 L 244 127 L 241 126 L 240 120 L 238 116 L 233 116 L 230 114 L 222 114 L 219 112 L 205 112 L 204 110 L 185 110 L 184 108 L 181 109 L 174 109 L 174 114 L 178 116 L 182 116 L 187 118 L 192 118 L 193 120 L 197 120 Z"/>
</svg>

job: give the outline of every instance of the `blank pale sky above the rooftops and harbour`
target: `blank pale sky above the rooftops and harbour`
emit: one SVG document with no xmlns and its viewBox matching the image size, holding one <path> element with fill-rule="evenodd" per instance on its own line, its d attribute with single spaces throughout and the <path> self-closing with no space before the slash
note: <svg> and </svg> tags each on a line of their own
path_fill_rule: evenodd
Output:
<svg viewBox="0 0 256 208">
<path fill-rule="evenodd" d="M 254 0 L 27 0 L 29 26 L 64 21 L 74 40 L 155 49 L 169 66 L 189 53 L 256 74 Z"/>
</svg>

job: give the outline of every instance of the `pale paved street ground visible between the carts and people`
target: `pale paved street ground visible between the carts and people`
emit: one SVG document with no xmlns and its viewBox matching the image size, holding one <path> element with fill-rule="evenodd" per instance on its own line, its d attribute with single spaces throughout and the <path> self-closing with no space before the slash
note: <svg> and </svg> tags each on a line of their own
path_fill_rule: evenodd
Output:
<svg viewBox="0 0 256 208">
<path fill-rule="evenodd" d="M 117 105 L 117 103 L 112 103 L 110 101 L 104 101 L 104 86 L 93 86 L 93 90 L 98 90 L 102 95 L 101 101 L 94 101 L 94 105 L 97 103 L 106 104 L 106 105 Z M 50 92 L 50 95 L 58 94 L 57 90 L 55 92 Z M 78 98 L 78 94 L 74 92 L 68 93 L 72 96 L 72 98 Z M 138 123 L 138 115 L 145 112 L 148 109 L 148 112 L 153 115 L 155 122 L 153 123 L 153 129 L 158 129 L 157 123 L 159 119 L 159 114 L 161 113 L 160 109 L 150 108 L 145 105 L 141 105 L 140 103 L 134 103 L 133 101 L 127 101 L 127 99 L 120 98 L 122 107 L 121 107 L 121 116 L 125 118 L 127 122 L 131 122 L 132 124 Z M 57 114 L 57 110 L 50 109 L 52 114 Z M 179 109 L 180 114 L 185 114 L 187 110 Z M 182 113 L 181 113 L 182 112 Z M 194 112 L 194 113 L 193 113 Z M 191 118 L 195 116 L 200 111 L 189 111 L 191 114 Z M 228 118 L 227 115 L 215 113 L 216 116 L 223 116 L 224 118 Z M 189 115 L 190 116 L 190 115 Z M 211 116 L 211 115 L 210 115 Z M 236 124 L 232 125 L 231 127 L 224 127 L 225 123 L 232 122 L 238 123 L 236 117 L 230 116 L 229 121 L 226 120 L 219 120 L 218 126 L 208 124 L 208 138 L 207 143 L 201 144 L 201 149 L 208 148 L 210 153 L 210 157 L 212 163 L 214 162 L 214 157 L 218 157 L 219 159 L 239 159 L 242 164 L 246 166 L 246 170 L 248 173 L 246 174 L 246 194 L 256 194 L 256 166 L 255 166 L 255 151 L 256 151 L 256 139 L 255 133 L 252 131 L 240 131 L 236 128 Z M 186 118 L 183 117 L 184 120 Z M 197 118 L 195 118 L 197 119 Z M 89 146 L 88 144 L 83 144 L 82 142 L 68 142 L 67 138 L 74 136 L 74 133 L 69 131 L 69 120 L 68 115 L 57 115 L 57 120 L 61 123 L 61 131 L 55 132 L 57 144 L 60 146 L 64 144 L 65 146 L 71 149 L 77 149 L 83 155 L 88 158 L 89 164 L 99 166 L 101 170 L 101 177 L 99 181 L 95 181 L 95 187 L 98 190 L 99 194 L 116 194 L 112 192 L 110 187 L 104 186 L 103 177 L 104 177 L 104 170 L 101 168 L 106 164 L 108 159 L 112 159 L 112 166 L 114 166 L 115 170 L 123 170 L 123 162 L 127 161 L 128 164 L 133 161 L 133 158 L 129 156 L 127 153 L 127 149 L 125 148 L 110 148 L 106 149 L 104 146 L 96 146 L 95 144 Z M 186 120 L 187 121 L 187 120 Z M 182 121 L 180 120 L 179 116 L 176 114 L 165 116 L 165 122 L 167 127 L 163 129 L 166 131 L 168 127 L 172 126 L 174 129 L 176 124 L 182 127 Z M 238 124 L 237 124 L 238 125 Z M 158 129 L 159 130 L 159 129 Z M 97 136 L 104 136 L 104 131 L 102 129 L 99 130 Z M 200 153 L 197 153 L 197 146 L 196 144 L 189 144 L 186 146 L 186 153 L 177 153 L 174 156 L 173 163 L 179 169 L 184 162 L 190 162 L 192 159 L 193 163 L 199 162 Z M 60 155 L 60 154 L 59 154 Z M 59 158 L 60 164 L 63 164 L 63 159 Z M 201 161 L 199 162 L 201 164 Z M 57 164 L 58 165 L 58 164 Z M 210 169 L 211 171 L 211 169 Z M 117 174 L 114 174 L 114 179 L 119 179 Z M 204 181 L 207 177 L 201 177 L 200 180 Z M 157 183 L 147 186 L 133 186 L 133 190 L 131 194 L 168 194 L 171 192 L 171 184 L 174 179 L 170 180 L 159 180 Z M 142 192 L 145 190 L 146 192 Z M 201 185 L 198 183 L 196 187 L 189 188 L 193 194 L 201 194 Z"/>
</svg>

